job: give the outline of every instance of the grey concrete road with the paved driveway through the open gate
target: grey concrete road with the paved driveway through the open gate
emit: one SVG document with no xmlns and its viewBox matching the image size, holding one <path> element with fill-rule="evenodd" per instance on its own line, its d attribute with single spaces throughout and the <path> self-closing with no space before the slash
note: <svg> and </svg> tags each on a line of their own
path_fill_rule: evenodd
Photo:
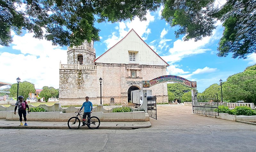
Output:
<svg viewBox="0 0 256 152">
<path fill-rule="evenodd" d="M 152 127 L 134 130 L 0 129 L 0 151 L 256 151 L 256 126 L 194 115 L 191 108 L 157 106 Z"/>
</svg>

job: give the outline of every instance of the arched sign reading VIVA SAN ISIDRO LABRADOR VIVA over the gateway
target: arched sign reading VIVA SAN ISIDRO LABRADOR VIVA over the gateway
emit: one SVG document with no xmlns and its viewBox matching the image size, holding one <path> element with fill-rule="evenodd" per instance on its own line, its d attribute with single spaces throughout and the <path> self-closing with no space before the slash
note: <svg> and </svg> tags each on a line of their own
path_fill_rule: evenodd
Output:
<svg viewBox="0 0 256 152">
<path fill-rule="evenodd" d="M 172 76 L 172 75 L 159 76 L 155 79 L 150 80 L 149 81 L 149 87 L 151 87 L 153 85 L 156 85 L 158 83 L 163 83 L 163 82 L 177 82 L 177 83 L 184 84 L 188 87 L 191 87 L 191 81 L 188 81 L 187 79 L 184 79 L 183 77 L 180 77 L 180 76 Z"/>
</svg>

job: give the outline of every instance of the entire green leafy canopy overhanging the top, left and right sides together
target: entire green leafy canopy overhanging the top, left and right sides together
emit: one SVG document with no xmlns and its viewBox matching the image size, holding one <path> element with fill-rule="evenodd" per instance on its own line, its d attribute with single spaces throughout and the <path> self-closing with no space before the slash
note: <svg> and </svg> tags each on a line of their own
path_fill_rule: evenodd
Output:
<svg viewBox="0 0 256 152">
<path fill-rule="evenodd" d="M 17 9 L 21 4 L 25 4 L 25 11 Z M 246 58 L 256 52 L 256 0 L 227 0 L 220 8 L 215 0 L 0 0 L 0 45 L 9 46 L 11 30 L 20 34 L 21 29 L 54 45 L 98 41 L 96 21 L 145 20 L 147 11 L 160 6 L 164 7 L 162 17 L 171 26 L 180 27 L 176 37 L 201 40 L 211 36 L 216 21 L 221 21 L 225 29 L 218 56 L 233 53 L 233 58 Z"/>
</svg>

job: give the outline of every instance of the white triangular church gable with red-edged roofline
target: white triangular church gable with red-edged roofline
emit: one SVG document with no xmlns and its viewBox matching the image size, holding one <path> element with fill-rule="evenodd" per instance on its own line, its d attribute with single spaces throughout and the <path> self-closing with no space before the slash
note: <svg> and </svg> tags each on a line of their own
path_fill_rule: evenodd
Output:
<svg viewBox="0 0 256 152">
<path fill-rule="evenodd" d="M 94 62 L 130 64 L 129 52 L 138 53 L 135 64 L 169 66 L 133 29 Z"/>
</svg>

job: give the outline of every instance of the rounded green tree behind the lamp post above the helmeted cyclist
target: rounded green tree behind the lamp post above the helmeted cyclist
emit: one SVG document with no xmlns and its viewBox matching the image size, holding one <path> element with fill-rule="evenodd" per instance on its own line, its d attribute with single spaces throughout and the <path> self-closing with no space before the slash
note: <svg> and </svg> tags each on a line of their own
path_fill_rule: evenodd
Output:
<svg viewBox="0 0 256 152">
<path fill-rule="evenodd" d="M 10 95 L 13 97 L 17 96 L 17 87 L 18 83 L 12 84 L 12 87 L 10 88 Z M 19 83 L 19 94 L 18 96 L 23 96 L 24 100 L 28 98 L 29 93 L 35 93 L 35 85 L 33 83 L 30 83 L 28 81 L 23 81 Z"/>
</svg>

